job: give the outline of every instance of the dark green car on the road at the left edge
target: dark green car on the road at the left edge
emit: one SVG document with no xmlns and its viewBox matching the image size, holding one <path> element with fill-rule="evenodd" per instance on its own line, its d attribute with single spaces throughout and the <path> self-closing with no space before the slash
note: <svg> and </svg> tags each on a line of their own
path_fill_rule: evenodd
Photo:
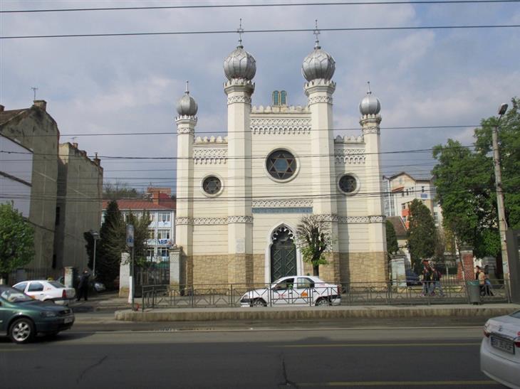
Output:
<svg viewBox="0 0 520 389">
<path fill-rule="evenodd" d="M 0 285 L 0 334 L 8 335 L 15 343 L 27 343 L 38 333 L 56 335 L 73 324 L 70 308 L 41 302 L 18 289 Z"/>
</svg>

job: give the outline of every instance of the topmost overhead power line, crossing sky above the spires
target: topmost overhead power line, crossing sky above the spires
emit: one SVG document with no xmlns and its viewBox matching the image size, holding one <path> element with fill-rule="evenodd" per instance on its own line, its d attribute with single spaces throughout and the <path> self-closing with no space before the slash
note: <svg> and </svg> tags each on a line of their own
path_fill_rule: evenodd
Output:
<svg viewBox="0 0 520 389">
<path fill-rule="evenodd" d="M 417 0 L 417 1 L 331 1 L 314 3 L 273 3 L 273 4 L 203 4 L 197 6 L 125 6 L 97 8 L 66 8 L 66 9 L 14 9 L 0 11 L 0 14 L 24 14 L 38 12 L 78 12 L 78 11 L 142 11 L 154 9 L 222 9 L 222 8 L 266 8 L 288 6 L 378 6 L 399 4 L 488 4 L 516 3 L 520 0 Z"/>
</svg>

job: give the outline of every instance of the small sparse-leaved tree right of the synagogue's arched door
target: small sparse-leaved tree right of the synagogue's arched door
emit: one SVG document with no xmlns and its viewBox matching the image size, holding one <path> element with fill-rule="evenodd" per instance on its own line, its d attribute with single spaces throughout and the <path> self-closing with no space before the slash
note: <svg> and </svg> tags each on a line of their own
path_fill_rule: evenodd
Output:
<svg viewBox="0 0 520 389">
<path fill-rule="evenodd" d="M 332 248 L 330 230 L 318 215 L 308 215 L 296 227 L 296 237 L 303 260 L 312 264 L 313 275 L 318 277 L 319 266 L 327 264 L 324 253 Z"/>
</svg>

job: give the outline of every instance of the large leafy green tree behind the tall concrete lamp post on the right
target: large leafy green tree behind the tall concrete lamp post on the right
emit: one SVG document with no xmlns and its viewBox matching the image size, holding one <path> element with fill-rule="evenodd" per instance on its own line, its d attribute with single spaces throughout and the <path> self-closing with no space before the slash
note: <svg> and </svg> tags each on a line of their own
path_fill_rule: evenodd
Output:
<svg viewBox="0 0 520 389">
<path fill-rule="evenodd" d="M 520 228 L 520 101 L 514 98 L 511 102 L 500 122 L 499 151 L 506 222 L 511 228 Z M 438 161 L 433 175 L 444 229 L 454 235 L 457 247 L 472 245 L 477 257 L 501 256 L 490 152 L 496 121 L 496 117 L 483 119 L 481 128 L 475 129 L 474 152 L 452 139 L 433 150 Z"/>
</svg>

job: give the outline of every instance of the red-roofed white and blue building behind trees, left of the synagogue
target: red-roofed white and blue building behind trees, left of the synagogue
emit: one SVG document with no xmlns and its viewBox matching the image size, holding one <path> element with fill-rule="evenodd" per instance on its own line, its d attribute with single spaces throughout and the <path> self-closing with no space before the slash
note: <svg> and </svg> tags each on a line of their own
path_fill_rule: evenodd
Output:
<svg viewBox="0 0 520 389">
<path fill-rule="evenodd" d="M 103 220 L 109 201 L 103 201 Z M 170 260 L 170 248 L 175 244 L 175 198 L 171 188 L 147 188 L 146 198 L 122 198 L 118 207 L 123 218 L 132 213 L 141 217 L 150 214 L 147 259 L 153 262 Z"/>
</svg>

